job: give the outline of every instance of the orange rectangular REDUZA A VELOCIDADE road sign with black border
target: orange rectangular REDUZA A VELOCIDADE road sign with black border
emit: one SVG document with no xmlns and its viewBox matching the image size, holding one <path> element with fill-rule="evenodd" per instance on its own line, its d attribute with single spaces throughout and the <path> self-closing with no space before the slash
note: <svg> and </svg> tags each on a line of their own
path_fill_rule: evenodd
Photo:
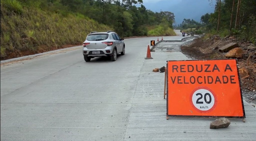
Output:
<svg viewBox="0 0 256 141">
<path fill-rule="evenodd" d="M 167 61 L 167 117 L 245 118 L 237 60 Z"/>
</svg>

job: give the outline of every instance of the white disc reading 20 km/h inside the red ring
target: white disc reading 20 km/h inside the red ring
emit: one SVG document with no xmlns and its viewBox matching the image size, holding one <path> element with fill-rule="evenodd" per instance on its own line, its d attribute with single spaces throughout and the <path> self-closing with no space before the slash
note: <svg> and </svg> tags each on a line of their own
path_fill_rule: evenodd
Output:
<svg viewBox="0 0 256 141">
<path fill-rule="evenodd" d="M 215 103 L 214 95 L 206 89 L 198 89 L 192 95 L 193 105 L 201 111 L 210 110 Z"/>
</svg>

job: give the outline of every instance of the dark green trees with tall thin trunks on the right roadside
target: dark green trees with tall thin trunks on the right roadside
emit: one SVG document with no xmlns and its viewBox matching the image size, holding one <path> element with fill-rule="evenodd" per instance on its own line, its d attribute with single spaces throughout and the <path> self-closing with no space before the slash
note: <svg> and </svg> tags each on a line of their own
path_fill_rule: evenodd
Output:
<svg viewBox="0 0 256 141">
<path fill-rule="evenodd" d="M 241 40 L 248 40 L 256 44 L 255 0 L 209 1 L 211 1 L 211 3 L 216 2 L 215 11 L 214 13 L 206 13 L 203 15 L 201 17 L 201 23 L 195 22 L 193 19 L 184 19 L 182 24 L 174 27 L 181 30 L 194 27 L 196 29 L 193 31 L 196 34 L 210 33 L 210 35 L 218 34 L 221 37 L 232 35 Z M 240 2 L 240 4 L 238 2 Z"/>
</svg>

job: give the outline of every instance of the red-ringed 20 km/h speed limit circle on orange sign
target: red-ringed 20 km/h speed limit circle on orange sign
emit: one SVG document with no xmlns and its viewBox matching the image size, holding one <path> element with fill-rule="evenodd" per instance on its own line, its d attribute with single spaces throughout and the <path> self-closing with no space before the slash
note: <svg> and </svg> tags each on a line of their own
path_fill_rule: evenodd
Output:
<svg viewBox="0 0 256 141">
<path fill-rule="evenodd" d="M 198 87 L 191 92 L 191 104 L 200 112 L 208 112 L 216 106 L 216 96 L 207 87 Z"/>
</svg>

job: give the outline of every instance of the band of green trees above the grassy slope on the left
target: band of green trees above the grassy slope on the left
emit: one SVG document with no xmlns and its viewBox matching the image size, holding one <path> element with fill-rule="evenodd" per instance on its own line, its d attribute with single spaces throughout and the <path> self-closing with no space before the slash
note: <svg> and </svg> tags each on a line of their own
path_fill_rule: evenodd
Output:
<svg viewBox="0 0 256 141">
<path fill-rule="evenodd" d="M 31 0 L 20 0 L 29 3 Z M 40 0 L 40 8 L 62 15 L 77 13 L 113 27 L 123 37 L 146 36 L 147 26 L 167 23 L 170 28 L 174 14 L 147 10 L 142 0 Z"/>
</svg>

